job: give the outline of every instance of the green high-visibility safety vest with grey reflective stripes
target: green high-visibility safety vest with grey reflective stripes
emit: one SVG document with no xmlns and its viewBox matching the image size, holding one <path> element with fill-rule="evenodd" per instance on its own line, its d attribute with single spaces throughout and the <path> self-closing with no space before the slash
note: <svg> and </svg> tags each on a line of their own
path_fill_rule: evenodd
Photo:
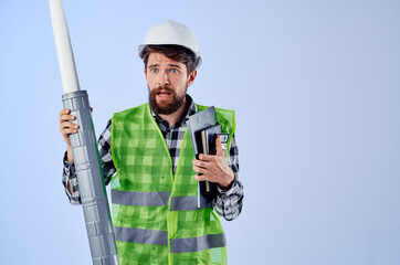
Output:
<svg viewBox="0 0 400 265">
<path fill-rule="evenodd" d="M 202 110 L 207 107 L 198 105 Z M 230 148 L 234 112 L 215 108 Z M 229 151 L 228 151 L 229 153 Z M 166 140 L 149 104 L 114 114 L 112 215 L 119 263 L 145 265 L 228 264 L 219 215 L 197 206 L 194 151 L 188 129 L 176 173 Z"/>
</svg>

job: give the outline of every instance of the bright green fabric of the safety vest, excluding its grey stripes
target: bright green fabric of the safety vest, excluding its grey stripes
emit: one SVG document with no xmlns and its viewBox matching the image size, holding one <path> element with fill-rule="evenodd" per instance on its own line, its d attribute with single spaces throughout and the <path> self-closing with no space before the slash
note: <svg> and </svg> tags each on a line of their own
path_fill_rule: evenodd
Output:
<svg viewBox="0 0 400 265">
<path fill-rule="evenodd" d="M 198 110 L 207 107 L 198 105 Z M 229 147 L 235 128 L 234 112 L 215 108 L 221 130 L 230 134 Z M 168 231 L 168 245 L 152 245 L 117 241 L 119 262 L 125 264 L 228 264 L 227 247 L 199 252 L 170 253 L 175 239 L 200 237 L 223 233 L 219 215 L 211 208 L 196 211 L 170 211 L 172 197 L 196 197 L 198 181 L 193 178 L 194 152 L 186 130 L 176 173 L 164 136 L 151 116 L 148 104 L 114 114 L 112 120 L 112 156 L 117 174 L 113 190 L 129 192 L 169 191 L 168 205 L 133 206 L 113 202 L 115 226 Z"/>
</svg>

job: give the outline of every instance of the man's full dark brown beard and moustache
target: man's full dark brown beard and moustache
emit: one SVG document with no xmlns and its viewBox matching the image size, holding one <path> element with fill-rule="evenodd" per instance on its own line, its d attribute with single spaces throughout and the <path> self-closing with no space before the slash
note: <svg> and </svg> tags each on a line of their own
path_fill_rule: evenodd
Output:
<svg viewBox="0 0 400 265">
<path fill-rule="evenodd" d="M 187 89 L 188 89 L 188 87 L 186 88 L 186 91 Z M 161 91 L 171 94 L 171 96 L 172 96 L 171 103 L 169 103 L 169 104 L 168 103 L 160 103 L 160 104 L 157 103 L 157 99 L 156 99 L 157 93 L 159 93 Z M 169 114 L 177 112 L 183 105 L 185 97 L 186 97 L 186 91 L 185 91 L 183 95 L 177 95 L 175 89 L 166 87 L 166 86 L 149 91 L 149 103 L 150 103 L 151 109 L 156 114 L 165 114 L 165 115 L 169 115 Z"/>
</svg>

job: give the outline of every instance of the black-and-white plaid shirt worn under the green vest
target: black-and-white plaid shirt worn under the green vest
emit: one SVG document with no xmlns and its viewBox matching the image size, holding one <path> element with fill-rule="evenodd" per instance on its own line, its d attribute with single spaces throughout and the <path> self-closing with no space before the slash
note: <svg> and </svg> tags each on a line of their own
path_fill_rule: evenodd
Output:
<svg viewBox="0 0 400 265">
<path fill-rule="evenodd" d="M 172 158 L 172 171 L 175 173 L 178 158 L 180 153 L 180 146 L 183 140 L 183 135 L 186 131 L 186 119 L 197 113 L 197 105 L 191 99 L 189 95 L 187 95 L 188 103 L 190 104 L 189 110 L 185 117 L 177 124 L 168 127 L 168 123 L 161 119 L 156 113 L 151 110 L 152 117 L 159 126 L 168 149 L 169 153 Z M 104 173 L 104 182 L 108 184 L 113 174 L 116 172 L 116 169 L 113 163 L 113 157 L 110 153 L 110 142 L 112 142 L 112 120 L 108 120 L 106 128 L 103 134 L 98 138 L 98 152 L 101 156 L 101 162 L 103 167 Z M 66 152 L 65 152 L 66 156 Z M 63 169 L 63 184 L 65 187 L 65 192 L 70 199 L 71 204 L 81 204 L 81 194 L 77 183 L 77 178 L 75 173 L 75 168 L 73 162 L 66 161 L 66 157 L 64 156 L 64 169 Z M 243 200 L 243 186 L 240 180 L 239 173 L 239 153 L 238 146 L 235 142 L 235 137 L 233 135 L 231 149 L 229 152 L 229 166 L 231 167 L 234 173 L 234 181 L 228 188 L 228 190 L 222 190 L 218 187 L 217 198 L 212 202 L 213 209 L 218 214 L 223 216 L 225 220 L 233 220 L 239 216 L 242 210 L 242 200 Z M 67 189 L 67 183 L 70 182 L 72 187 L 72 194 Z"/>
</svg>

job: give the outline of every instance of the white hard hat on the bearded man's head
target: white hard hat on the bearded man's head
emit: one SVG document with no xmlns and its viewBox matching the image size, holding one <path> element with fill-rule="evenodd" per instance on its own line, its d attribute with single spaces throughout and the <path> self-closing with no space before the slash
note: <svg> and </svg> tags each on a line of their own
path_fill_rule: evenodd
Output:
<svg viewBox="0 0 400 265">
<path fill-rule="evenodd" d="M 194 32 L 189 26 L 172 20 L 157 24 L 147 32 L 145 42 L 139 45 L 139 55 L 146 45 L 180 45 L 187 47 L 198 59 L 196 68 L 200 66 L 202 61 Z"/>
</svg>

